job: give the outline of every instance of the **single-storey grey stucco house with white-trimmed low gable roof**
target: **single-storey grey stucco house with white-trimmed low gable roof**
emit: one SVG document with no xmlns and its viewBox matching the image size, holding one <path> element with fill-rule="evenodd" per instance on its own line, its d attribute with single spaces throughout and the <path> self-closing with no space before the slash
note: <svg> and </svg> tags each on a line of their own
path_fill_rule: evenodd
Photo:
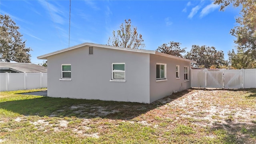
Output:
<svg viewBox="0 0 256 144">
<path fill-rule="evenodd" d="M 140 103 L 190 88 L 194 62 L 152 50 L 93 43 L 37 58 L 47 60 L 50 97 Z"/>
</svg>

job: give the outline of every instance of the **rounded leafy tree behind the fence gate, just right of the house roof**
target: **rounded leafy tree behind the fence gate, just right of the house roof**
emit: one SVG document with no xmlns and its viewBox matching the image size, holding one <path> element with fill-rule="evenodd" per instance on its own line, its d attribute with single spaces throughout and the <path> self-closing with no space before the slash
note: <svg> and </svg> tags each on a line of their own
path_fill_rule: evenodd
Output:
<svg viewBox="0 0 256 144">
<path fill-rule="evenodd" d="M 187 52 L 184 57 L 196 61 L 198 66 L 204 65 L 205 68 L 210 68 L 211 65 L 227 64 L 224 60 L 224 52 L 216 50 L 214 46 L 192 45 L 190 52 Z"/>
</svg>

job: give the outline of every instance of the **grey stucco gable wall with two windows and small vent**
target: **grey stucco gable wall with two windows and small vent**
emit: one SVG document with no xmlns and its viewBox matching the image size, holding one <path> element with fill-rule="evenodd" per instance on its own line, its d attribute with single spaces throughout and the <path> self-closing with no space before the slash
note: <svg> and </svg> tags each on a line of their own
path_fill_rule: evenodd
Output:
<svg viewBox="0 0 256 144">
<path fill-rule="evenodd" d="M 50 56 L 48 96 L 150 103 L 149 54 L 89 46 Z M 110 82 L 112 63 L 125 63 L 126 82 Z M 71 64 L 71 81 L 60 80 L 61 65 Z"/>
</svg>

